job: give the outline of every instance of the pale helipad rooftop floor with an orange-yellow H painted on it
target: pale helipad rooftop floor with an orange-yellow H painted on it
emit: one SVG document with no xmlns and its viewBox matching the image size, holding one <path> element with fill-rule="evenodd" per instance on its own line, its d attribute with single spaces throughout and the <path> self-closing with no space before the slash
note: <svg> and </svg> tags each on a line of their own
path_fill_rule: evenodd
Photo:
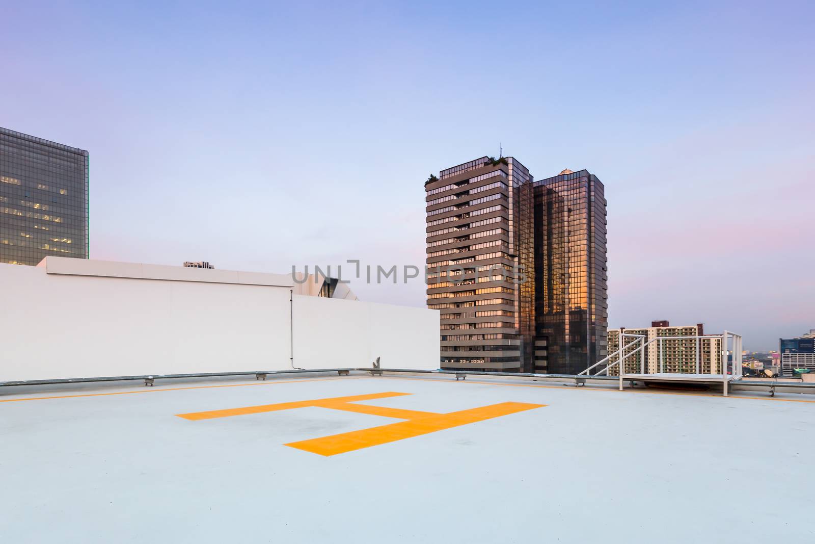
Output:
<svg viewBox="0 0 815 544">
<path fill-rule="evenodd" d="M 813 400 L 361 373 L 0 389 L 0 530 L 813 542 Z"/>
</svg>

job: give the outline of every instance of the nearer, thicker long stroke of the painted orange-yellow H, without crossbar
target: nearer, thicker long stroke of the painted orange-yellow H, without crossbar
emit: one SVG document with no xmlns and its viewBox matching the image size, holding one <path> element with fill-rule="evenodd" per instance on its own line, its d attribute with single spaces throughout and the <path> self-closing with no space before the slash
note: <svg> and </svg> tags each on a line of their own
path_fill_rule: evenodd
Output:
<svg viewBox="0 0 815 544">
<path fill-rule="evenodd" d="M 515 414 L 524 410 L 542 408 L 543 406 L 545 405 L 502 402 L 497 405 L 480 406 L 478 408 L 461 410 L 460 412 L 452 412 L 450 414 L 430 414 L 405 422 L 391 423 L 390 425 L 382 425 L 381 427 L 344 432 L 339 435 L 324 436 L 311 440 L 291 442 L 285 445 L 328 457 L 330 455 L 337 455 L 337 453 L 347 453 L 355 451 L 356 449 L 387 444 L 389 442 L 395 442 L 396 440 L 426 435 L 430 432 L 443 431 L 444 429 L 460 427 L 468 423 L 498 418 L 508 414 Z"/>
</svg>

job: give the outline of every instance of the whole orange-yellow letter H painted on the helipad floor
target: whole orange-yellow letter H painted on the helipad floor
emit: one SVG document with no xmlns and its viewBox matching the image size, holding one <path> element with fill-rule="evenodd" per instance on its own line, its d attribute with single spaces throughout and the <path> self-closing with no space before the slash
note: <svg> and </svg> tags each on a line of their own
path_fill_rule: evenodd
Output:
<svg viewBox="0 0 815 544">
<path fill-rule="evenodd" d="M 319 407 L 357 414 L 372 414 L 385 418 L 405 419 L 406 421 L 371 427 L 360 431 L 343 432 L 339 435 L 323 436 L 311 440 L 301 440 L 284 444 L 292 448 L 302 449 L 320 455 L 337 455 L 355 449 L 368 448 L 379 444 L 387 444 L 396 440 L 426 435 L 430 432 L 443 431 L 452 427 L 459 427 L 467 423 L 498 418 L 508 414 L 515 414 L 524 410 L 543 408 L 545 405 L 532 405 L 525 402 L 502 402 L 497 405 L 479 406 L 469 410 L 460 410 L 450 414 L 436 414 L 435 412 L 420 412 L 381 406 L 350 404 L 358 400 L 385 399 L 391 396 L 410 395 L 410 393 L 372 393 L 370 395 L 337 396 L 330 399 L 299 400 L 297 402 L 281 402 L 276 405 L 247 406 L 245 408 L 231 408 L 212 410 L 209 412 L 193 412 L 192 414 L 177 414 L 179 418 L 199 421 L 200 419 L 228 418 L 244 414 L 261 414 L 277 410 L 293 408 Z"/>
</svg>

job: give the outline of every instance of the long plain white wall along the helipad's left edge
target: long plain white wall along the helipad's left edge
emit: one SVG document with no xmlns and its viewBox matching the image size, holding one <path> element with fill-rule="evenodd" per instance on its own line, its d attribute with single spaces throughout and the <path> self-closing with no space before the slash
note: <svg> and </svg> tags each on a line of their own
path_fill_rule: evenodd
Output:
<svg viewBox="0 0 815 544">
<path fill-rule="evenodd" d="M 438 312 L 314 296 L 283 274 L 0 264 L 0 383 L 370 366 L 436 369 Z"/>
</svg>

